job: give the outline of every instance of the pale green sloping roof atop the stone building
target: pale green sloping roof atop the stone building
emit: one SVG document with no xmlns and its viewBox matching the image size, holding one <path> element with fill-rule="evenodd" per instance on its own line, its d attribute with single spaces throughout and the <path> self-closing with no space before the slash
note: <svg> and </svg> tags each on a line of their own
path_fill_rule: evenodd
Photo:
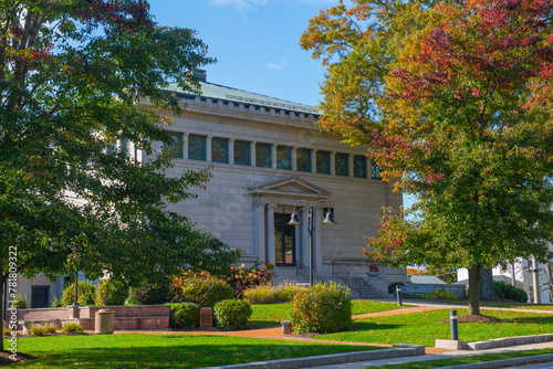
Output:
<svg viewBox="0 0 553 369">
<path fill-rule="evenodd" d="M 236 104 L 257 105 L 267 108 L 285 109 L 306 114 L 317 114 L 312 106 L 289 102 L 282 98 L 270 97 L 242 89 L 217 85 L 215 83 L 201 82 L 201 98 L 211 98 L 212 101 L 233 102 Z M 169 91 L 184 95 L 195 96 L 190 93 L 184 93 L 177 84 L 169 84 Z"/>
</svg>

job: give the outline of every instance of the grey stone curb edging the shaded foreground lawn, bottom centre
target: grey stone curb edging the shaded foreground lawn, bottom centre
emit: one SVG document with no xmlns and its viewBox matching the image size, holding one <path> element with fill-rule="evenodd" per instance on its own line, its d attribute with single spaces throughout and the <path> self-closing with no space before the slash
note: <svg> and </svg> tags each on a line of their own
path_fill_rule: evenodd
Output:
<svg viewBox="0 0 553 369">
<path fill-rule="evenodd" d="M 257 361 L 236 363 L 223 367 L 210 367 L 208 369 L 294 369 L 327 366 L 333 363 L 346 363 L 356 361 L 382 360 L 390 358 L 399 358 L 407 356 L 425 355 L 425 347 L 422 345 L 394 345 L 398 348 L 388 348 L 383 350 L 358 351 L 358 352 L 344 352 L 332 354 L 322 356 L 310 356 L 306 358 L 281 359 L 270 361 Z"/>
</svg>

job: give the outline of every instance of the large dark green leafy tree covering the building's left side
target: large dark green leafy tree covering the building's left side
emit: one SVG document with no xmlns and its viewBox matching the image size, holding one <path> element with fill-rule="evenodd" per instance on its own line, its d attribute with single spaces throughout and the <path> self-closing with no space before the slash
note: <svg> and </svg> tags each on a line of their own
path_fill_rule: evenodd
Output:
<svg viewBox="0 0 553 369">
<path fill-rule="evenodd" d="M 170 122 L 148 108 L 178 114 L 164 87 L 196 92 L 190 71 L 211 62 L 195 31 L 160 27 L 144 0 L 0 2 L 0 286 L 10 270 L 137 283 L 236 260 L 167 209 L 209 172 L 165 175 Z"/>
</svg>

